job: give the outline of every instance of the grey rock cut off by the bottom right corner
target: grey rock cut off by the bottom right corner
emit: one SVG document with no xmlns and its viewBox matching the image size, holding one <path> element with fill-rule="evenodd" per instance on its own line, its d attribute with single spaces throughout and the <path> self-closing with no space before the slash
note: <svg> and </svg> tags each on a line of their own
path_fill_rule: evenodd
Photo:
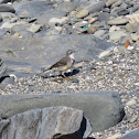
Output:
<svg viewBox="0 0 139 139">
<path fill-rule="evenodd" d="M 127 133 L 126 136 L 121 137 L 120 139 L 138 139 L 138 137 L 139 137 L 139 129 Z"/>
</svg>

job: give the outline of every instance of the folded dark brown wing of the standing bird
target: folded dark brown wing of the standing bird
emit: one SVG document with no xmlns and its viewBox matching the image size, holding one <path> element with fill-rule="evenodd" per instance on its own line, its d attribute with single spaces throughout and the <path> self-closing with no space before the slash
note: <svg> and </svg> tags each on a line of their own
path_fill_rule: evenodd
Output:
<svg viewBox="0 0 139 139">
<path fill-rule="evenodd" d="M 52 70 L 54 67 L 64 66 L 64 65 L 67 64 L 68 61 L 70 61 L 70 57 L 63 57 L 62 60 L 60 60 L 58 62 L 56 62 L 55 64 L 53 64 L 49 70 Z"/>
</svg>

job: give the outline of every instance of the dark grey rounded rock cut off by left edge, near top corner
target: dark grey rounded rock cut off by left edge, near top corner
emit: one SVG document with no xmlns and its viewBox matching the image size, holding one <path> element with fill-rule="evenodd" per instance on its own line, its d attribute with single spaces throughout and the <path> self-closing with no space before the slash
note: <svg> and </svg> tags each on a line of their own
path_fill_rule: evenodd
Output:
<svg viewBox="0 0 139 139">
<path fill-rule="evenodd" d="M 14 13 L 15 10 L 10 4 L 0 4 L 0 12 L 12 12 L 12 13 Z"/>
</svg>

